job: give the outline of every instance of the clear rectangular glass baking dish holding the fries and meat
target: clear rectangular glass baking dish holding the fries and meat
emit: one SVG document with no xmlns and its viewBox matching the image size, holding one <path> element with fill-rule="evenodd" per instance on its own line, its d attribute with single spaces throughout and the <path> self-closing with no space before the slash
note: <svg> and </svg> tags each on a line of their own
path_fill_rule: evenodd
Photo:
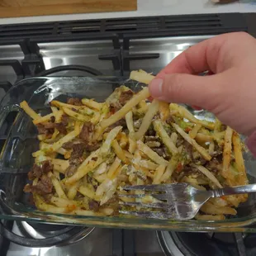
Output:
<svg viewBox="0 0 256 256">
<path fill-rule="evenodd" d="M 34 159 L 32 152 L 38 149 L 37 131 L 31 118 L 19 107 L 23 100 L 42 115 L 50 112 L 53 99 L 65 101 L 67 97 L 88 97 L 104 101 L 121 84 L 138 91 L 143 84 L 124 81 L 122 78 L 27 78 L 17 83 L 2 99 L 0 110 L 0 218 L 26 220 L 66 225 L 87 225 L 130 229 L 178 230 L 178 231 L 256 231 L 256 195 L 239 206 L 238 214 L 228 220 L 153 220 L 135 217 L 71 216 L 37 211 L 30 197 L 23 192 L 28 182 Z M 16 116 L 17 114 L 17 116 Z M 198 118 L 211 119 L 206 111 L 194 111 Z M 14 116 L 16 116 L 14 118 Z M 14 121 L 13 121 L 14 120 Z M 245 153 L 249 183 L 256 183 L 256 162 Z"/>
</svg>

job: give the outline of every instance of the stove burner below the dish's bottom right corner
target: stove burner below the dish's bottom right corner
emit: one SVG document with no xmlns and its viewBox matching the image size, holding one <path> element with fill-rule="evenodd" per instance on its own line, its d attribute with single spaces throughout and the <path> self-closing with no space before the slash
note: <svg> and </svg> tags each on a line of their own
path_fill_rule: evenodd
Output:
<svg viewBox="0 0 256 256">
<path fill-rule="evenodd" d="M 167 256 L 253 256 L 241 233 L 183 233 L 157 231 L 159 244 Z M 252 235 L 255 238 L 254 235 Z"/>
</svg>

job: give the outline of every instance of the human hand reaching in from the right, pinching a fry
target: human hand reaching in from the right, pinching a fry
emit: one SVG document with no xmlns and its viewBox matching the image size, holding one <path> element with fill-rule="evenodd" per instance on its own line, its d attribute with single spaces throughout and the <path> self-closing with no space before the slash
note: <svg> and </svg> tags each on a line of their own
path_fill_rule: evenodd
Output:
<svg viewBox="0 0 256 256">
<path fill-rule="evenodd" d="M 244 135 L 256 130 L 256 40 L 244 32 L 190 47 L 149 84 L 151 96 L 213 112 Z M 204 71 L 214 73 L 198 76 Z"/>
</svg>

